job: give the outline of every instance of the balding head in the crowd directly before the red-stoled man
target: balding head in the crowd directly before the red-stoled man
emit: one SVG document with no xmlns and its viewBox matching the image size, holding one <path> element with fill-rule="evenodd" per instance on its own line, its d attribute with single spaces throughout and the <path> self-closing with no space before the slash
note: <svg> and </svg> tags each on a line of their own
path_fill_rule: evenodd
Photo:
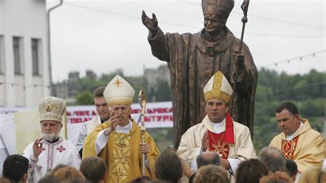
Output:
<svg viewBox="0 0 326 183">
<path fill-rule="evenodd" d="M 215 151 L 205 151 L 197 156 L 197 169 L 201 166 L 214 164 L 219 166 L 220 160 L 219 155 Z"/>
</svg>

